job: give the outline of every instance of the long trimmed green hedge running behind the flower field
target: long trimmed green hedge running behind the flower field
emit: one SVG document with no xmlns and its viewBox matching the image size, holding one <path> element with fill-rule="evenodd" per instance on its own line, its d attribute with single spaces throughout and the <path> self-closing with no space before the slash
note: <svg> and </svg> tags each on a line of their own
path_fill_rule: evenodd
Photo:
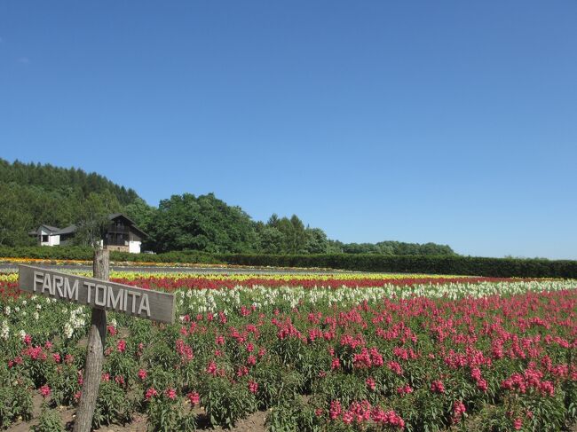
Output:
<svg viewBox="0 0 577 432">
<path fill-rule="evenodd" d="M 91 260 L 92 251 L 90 247 L 0 247 L 0 257 Z M 178 251 L 158 255 L 112 252 L 110 259 L 112 261 L 154 263 L 229 263 L 272 267 L 323 267 L 350 271 L 437 273 L 495 278 L 577 279 L 577 261 L 480 258 L 474 256 L 247 255 Z"/>
</svg>

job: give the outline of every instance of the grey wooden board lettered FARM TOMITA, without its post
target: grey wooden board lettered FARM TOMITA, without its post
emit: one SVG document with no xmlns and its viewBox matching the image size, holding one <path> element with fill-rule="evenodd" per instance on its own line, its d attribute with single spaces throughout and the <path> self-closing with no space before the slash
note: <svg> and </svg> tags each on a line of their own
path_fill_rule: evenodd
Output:
<svg viewBox="0 0 577 432">
<path fill-rule="evenodd" d="M 90 308 L 115 310 L 135 317 L 173 323 L 175 296 L 107 280 L 84 278 L 62 271 L 19 265 L 19 287 Z"/>
</svg>

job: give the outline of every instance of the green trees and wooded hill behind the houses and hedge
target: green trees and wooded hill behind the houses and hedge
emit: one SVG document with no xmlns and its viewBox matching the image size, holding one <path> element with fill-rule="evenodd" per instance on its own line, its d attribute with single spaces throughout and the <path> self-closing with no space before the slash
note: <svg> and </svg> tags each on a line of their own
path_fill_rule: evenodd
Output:
<svg viewBox="0 0 577 432">
<path fill-rule="evenodd" d="M 91 239 L 89 221 L 103 224 L 107 214 L 123 212 L 148 234 L 143 247 L 159 253 L 455 255 L 451 247 L 435 243 L 329 240 L 320 228 L 305 225 L 296 215 L 273 214 L 266 222 L 254 221 L 213 193 L 173 195 L 153 207 L 134 190 L 96 173 L 2 159 L 0 208 L 0 246 L 33 245 L 28 232 L 40 224 L 77 224 L 83 229 L 75 242 L 82 245 Z"/>
</svg>

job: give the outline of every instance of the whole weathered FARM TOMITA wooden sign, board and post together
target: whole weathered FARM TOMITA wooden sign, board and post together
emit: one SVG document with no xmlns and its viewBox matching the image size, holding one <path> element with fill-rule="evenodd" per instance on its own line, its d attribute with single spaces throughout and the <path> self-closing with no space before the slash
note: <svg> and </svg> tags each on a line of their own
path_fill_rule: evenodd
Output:
<svg viewBox="0 0 577 432">
<path fill-rule="evenodd" d="M 173 323 L 175 296 L 160 291 L 131 287 L 108 280 L 109 252 L 94 253 L 93 278 L 61 271 L 19 265 L 21 290 L 91 308 L 91 328 L 83 374 L 83 389 L 76 411 L 75 432 L 91 430 L 107 334 L 107 310 L 126 313 L 163 323 Z"/>
</svg>

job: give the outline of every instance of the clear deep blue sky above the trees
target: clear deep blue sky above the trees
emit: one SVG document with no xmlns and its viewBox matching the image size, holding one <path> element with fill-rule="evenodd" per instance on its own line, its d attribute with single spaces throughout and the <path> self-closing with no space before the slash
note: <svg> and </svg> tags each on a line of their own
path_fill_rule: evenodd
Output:
<svg viewBox="0 0 577 432">
<path fill-rule="evenodd" d="M 577 259 L 577 2 L 0 2 L 0 157 Z M 1 209 L 0 209 L 1 211 Z"/>
</svg>

